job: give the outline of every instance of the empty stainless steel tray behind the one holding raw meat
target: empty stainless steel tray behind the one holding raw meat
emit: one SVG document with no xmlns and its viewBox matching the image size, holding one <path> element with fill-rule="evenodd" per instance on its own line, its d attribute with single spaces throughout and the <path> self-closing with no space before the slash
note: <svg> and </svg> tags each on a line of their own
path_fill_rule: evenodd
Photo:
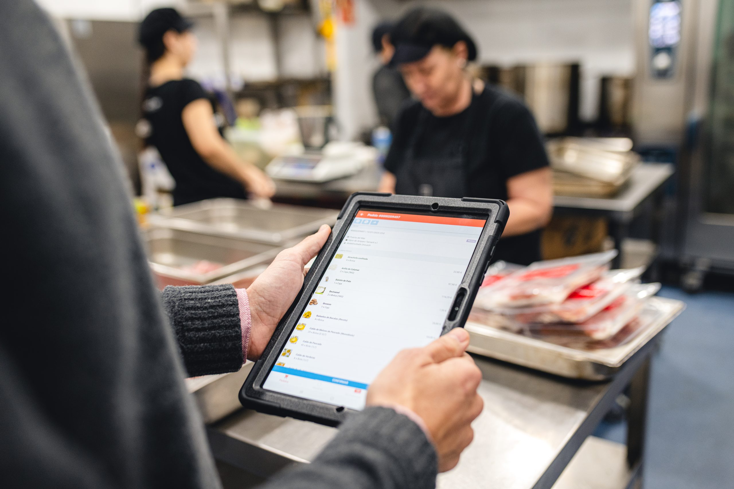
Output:
<svg viewBox="0 0 734 489">
<path fill-rule="evenodd" d="M 208 199 L 179 205 L 148 218 L 157 227 L 280 244 L 333 225 L 337 210 L 273 204 L 261 207 L 247 200 Z"/>
</svg>

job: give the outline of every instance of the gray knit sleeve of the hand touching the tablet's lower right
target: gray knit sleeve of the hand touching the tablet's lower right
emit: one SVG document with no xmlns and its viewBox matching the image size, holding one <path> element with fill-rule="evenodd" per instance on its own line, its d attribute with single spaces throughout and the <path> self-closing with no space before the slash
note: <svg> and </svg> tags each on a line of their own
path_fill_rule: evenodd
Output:
<svg viewBox="0 0 734 489">
<path fill-rule="evenodd" d="M 313 460 L 260 489 L 433 489 L 438 461 L 420 427 L 392 409 L 351 416 Z"/>
</svg>

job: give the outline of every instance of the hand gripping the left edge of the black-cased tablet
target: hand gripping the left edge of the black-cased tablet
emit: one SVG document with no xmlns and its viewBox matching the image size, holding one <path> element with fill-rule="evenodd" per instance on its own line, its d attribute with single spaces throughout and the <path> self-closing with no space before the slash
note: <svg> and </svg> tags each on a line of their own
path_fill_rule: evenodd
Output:
<svg viewBox="0 0 734 489">
<path fill-rule="evenodd" d="M 331 228 L 324 224 L 316 234 L 293 248 L 280 251 L 270 266 L 247 287 L 252 317 L 248 360 L 259 359 L 262 355 L 277 323 L 301 290 L 305 276 L 303 268 L 319 253 L 330 232 Z"/>
</svg>

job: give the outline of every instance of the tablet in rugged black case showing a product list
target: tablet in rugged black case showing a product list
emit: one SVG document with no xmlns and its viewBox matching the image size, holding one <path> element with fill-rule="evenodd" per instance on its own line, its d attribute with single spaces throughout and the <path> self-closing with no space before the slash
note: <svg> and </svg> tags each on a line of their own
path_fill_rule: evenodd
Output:
<svg viewBox="0 0 734 489">
<path fill-rule="evenodd" d="M 404 348 L 464 326 L 505 202 L 357 193 L 240 391 L 247 408 L 335 426 Z"/>
</svg>

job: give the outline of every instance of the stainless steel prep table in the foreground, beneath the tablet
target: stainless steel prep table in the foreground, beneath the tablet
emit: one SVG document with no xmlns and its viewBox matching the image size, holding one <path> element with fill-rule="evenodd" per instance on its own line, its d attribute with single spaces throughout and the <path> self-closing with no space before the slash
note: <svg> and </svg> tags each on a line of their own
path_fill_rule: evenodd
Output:
<svg viewBox="0 0 734 489">
<path fill-rule="evenodd" d="M 438 487 L 640 487 L 634 484 L 642 480 L 650 356 L 659 338 L 647 342 L 608 383 L 567 380 L 475 356 L 484 376 L 479 386 L 484 411 L 473 424 L 473 443 L 457 468 L 440 475 Z M 626 386 L 631 386 L 628 446 L 589 436 Z M 208 426 L 214 457 L 259 477 L 313 460 L 335 433 L 254 411 Z"/>
</svg>

